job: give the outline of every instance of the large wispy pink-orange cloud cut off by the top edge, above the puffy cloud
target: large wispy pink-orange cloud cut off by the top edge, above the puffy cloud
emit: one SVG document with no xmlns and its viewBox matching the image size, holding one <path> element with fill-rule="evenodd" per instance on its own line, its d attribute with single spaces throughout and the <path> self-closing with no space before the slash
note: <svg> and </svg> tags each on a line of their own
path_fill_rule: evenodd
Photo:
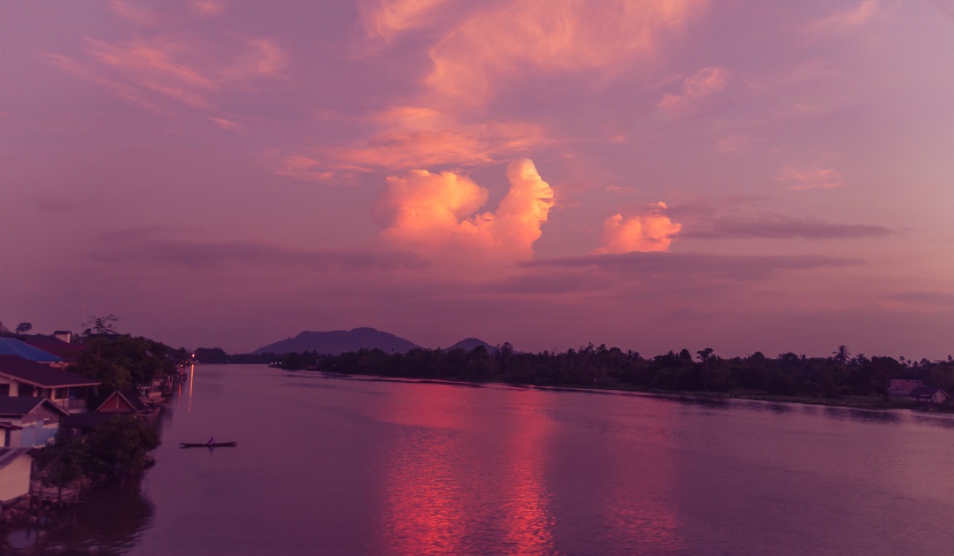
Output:
<svg viewBox="0 0 954 556">
<path fill-rule="evenodd" d="M 528 71 L 612 74 L 652 63 L 703 0 L 517 0 L 477 11 L 430 50 L 425 83 L 439 97 L 481 106 Z"/>
</svg>

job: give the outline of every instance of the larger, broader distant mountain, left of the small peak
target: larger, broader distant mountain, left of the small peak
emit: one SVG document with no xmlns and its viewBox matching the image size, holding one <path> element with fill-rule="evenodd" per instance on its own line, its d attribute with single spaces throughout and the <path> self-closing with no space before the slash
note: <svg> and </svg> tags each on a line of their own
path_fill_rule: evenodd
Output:
<svg viewBox="0 0 954 556">
<path fill-rule="evenodd" d="M 252 353 L 280 354 L 314 351 L 321 354 L 340 355 L 348 351 L 358 351 L 361 348 L 378 348 L 384 353 L 406 353 L 415 347 L 421 346 L 374 328 L 355 328 L 330 332 L 306 330 L 295 338 L 270 343 Z"/>
</svg>

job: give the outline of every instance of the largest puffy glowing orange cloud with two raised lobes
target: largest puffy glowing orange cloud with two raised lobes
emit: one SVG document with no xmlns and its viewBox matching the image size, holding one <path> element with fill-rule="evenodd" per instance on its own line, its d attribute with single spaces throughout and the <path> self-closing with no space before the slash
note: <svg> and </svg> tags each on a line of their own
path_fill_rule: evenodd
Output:
<svg viewBox="0 0 954 556">
<path fill-rule="evenodd" d="M 495 212 L 475 214 L 489 192 L 466 175 L 412 170 L 387 178 L 374 207 L 387 241 L 450 258 L 529 258 L 553 206 L 553 190 L 529 159 L 507 170 L 510 188 Z"/>
</svg>

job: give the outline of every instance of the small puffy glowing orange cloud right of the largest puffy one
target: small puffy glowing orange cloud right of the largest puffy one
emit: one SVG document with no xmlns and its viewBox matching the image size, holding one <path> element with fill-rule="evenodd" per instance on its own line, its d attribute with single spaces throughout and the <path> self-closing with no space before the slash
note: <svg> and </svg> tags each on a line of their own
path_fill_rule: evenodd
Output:
<svg viewBox="0 0 954 556">
<path fill-rule="evenodd" d="M 665 209 L 666 203 L 657 203 L 648 215 L 610 216 L 603 222 L 602 246 L 593 254 L 668 250 L 674 237 L 682 230 L 682 224 L 663 215 Z"/>
</svg>

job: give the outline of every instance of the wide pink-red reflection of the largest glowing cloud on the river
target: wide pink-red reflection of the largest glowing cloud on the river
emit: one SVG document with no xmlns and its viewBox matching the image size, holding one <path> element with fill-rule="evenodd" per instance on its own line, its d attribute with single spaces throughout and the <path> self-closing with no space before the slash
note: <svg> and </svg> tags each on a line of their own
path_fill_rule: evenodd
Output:
<svg viewBox="0 0 954 556">
<path fill-rule="evenodd" d="M 488 417 L 481 391 L 432 392 L 382 407 L 404 429 L 383 473 L 385 551 L 556 554 L 546 469 L 554 423 L 523 410 Z M 512 395 L 520 403 L 528 393 Z"/>
</svg>

